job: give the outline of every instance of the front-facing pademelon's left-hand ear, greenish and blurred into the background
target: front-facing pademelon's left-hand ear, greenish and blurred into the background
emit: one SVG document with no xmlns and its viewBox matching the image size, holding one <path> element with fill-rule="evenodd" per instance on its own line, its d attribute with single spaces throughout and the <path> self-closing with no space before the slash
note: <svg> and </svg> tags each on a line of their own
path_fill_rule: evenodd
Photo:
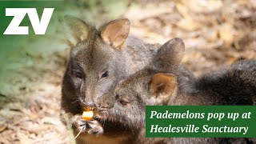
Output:
<svg viewBox="0 0 256 144">
<path fill-rule="evenodd" d="M 64 34 L 72 46 L 88 38 L 89 27 L 86 22 L 70 15 L 66 15 L 63 21 Z"/>
</svg>

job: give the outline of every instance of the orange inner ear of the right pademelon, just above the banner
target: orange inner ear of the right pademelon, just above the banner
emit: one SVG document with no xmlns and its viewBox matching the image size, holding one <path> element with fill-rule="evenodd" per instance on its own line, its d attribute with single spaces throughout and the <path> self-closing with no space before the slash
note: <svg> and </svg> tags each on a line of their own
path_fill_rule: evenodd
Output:
<svg viewBox="0 0 256 144">
<path fill-rule="evenodd" d="M 177 78 L 174 74 L 154 74 L 150 83 L 150 93 L 154 98 L 171 96 L 177 87 Z"/>
</svg>

